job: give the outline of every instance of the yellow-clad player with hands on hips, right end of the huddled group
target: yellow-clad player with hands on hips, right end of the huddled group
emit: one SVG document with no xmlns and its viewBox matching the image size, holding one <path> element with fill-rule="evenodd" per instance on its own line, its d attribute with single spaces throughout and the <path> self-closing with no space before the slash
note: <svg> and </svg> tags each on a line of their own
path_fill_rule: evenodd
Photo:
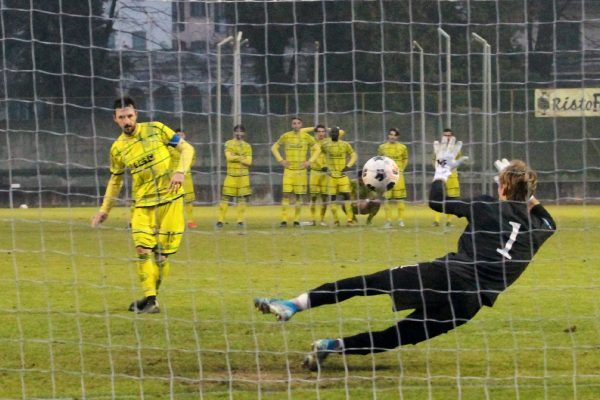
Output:
<svg viewBox="0 0 600 400">
<path fill-rule="evenodd" d="M 346 220 L 349 226 L 354 225 L 354 214 L 352 212 L 352 202 L 350 199 L 350 178 L 346 175 L 347 170 L 356 163 L 356 152 L 350 143 L 340 140 L 340 128 L 331 128 L 329 133 L 330 140 L 323 143 L 322 151 L 327 160 L 327 194 L 331 204 L 331 214 L 333 215 L 334 225 L 339 225 L 337 196 L 340 195 L 344 201 L 346 210 Z"/>
</svg>

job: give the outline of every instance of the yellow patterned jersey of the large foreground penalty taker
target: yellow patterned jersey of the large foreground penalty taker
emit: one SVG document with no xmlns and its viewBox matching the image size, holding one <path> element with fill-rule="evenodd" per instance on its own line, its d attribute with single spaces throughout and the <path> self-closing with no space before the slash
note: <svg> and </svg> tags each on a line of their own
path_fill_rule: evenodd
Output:
<svg viewBox="0 0 600 400">
<path fill-rule="evenodd" d="M 183 189 L 169 192 L 171 154 L 179 136 L 160 122 L 140 122 L 131 135 L 121 133 L 110 149 L 110 173 L 122 175 L 128 169 L 136 207 L 167 203 L 183 195 Z"/>
</svg>

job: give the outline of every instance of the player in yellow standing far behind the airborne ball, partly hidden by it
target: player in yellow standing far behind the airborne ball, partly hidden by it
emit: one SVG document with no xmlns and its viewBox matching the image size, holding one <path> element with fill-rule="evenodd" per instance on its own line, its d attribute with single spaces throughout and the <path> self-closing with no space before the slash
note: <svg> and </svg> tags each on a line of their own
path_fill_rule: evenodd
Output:
<svg viewBox="0 0 600 400">
<path fill-rule="evenodd" d="M 396 128 L 391 128 L 388 132 L 388 140 L 379 145 L 377 154 L 391 158 L 398 165 L 400 177 L 392 190 L 388 190 L 383 194 L 385 199 L 383 210 L 385 212 L 384 228 L 391 228 L 392 224 L 397 223 L 398 226 L 404 226 L 404 199 L 406 199 L 406 183 L 404 181 L 404 170 L 408 165 L 408 149 L 399 142 L 400 131 Z M 392 205 L 396 205 L 397 218 L 392 217 Z"/>
</svg>

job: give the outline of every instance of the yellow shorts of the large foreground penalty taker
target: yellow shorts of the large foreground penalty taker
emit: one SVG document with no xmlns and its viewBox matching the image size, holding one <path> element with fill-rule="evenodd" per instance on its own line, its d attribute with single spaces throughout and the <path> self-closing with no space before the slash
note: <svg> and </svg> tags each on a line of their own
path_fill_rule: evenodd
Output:
<svg viewBox="0 0 600 400">
<path fill-rule="evenodd" d="M 170 203 L 133 209 L 131 235 L 136 247 L 161 254 L 176 253 L 184 229 L 183 196 Z"/>
</svg>

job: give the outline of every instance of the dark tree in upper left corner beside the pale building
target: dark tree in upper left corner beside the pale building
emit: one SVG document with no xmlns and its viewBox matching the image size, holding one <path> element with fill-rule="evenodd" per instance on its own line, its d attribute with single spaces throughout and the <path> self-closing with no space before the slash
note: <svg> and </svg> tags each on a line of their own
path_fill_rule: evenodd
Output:
<svg viewBox="0 0 600 400">
<path fill-rule="evenodd" d="M 33 0 L 25 9 L 22 1 L 2 2 L 10 98 L 90 106 L 95 96 L 114 93 L 118 66 L 107 57 L 112 23 L 102 3 Z"/>
</svg>

